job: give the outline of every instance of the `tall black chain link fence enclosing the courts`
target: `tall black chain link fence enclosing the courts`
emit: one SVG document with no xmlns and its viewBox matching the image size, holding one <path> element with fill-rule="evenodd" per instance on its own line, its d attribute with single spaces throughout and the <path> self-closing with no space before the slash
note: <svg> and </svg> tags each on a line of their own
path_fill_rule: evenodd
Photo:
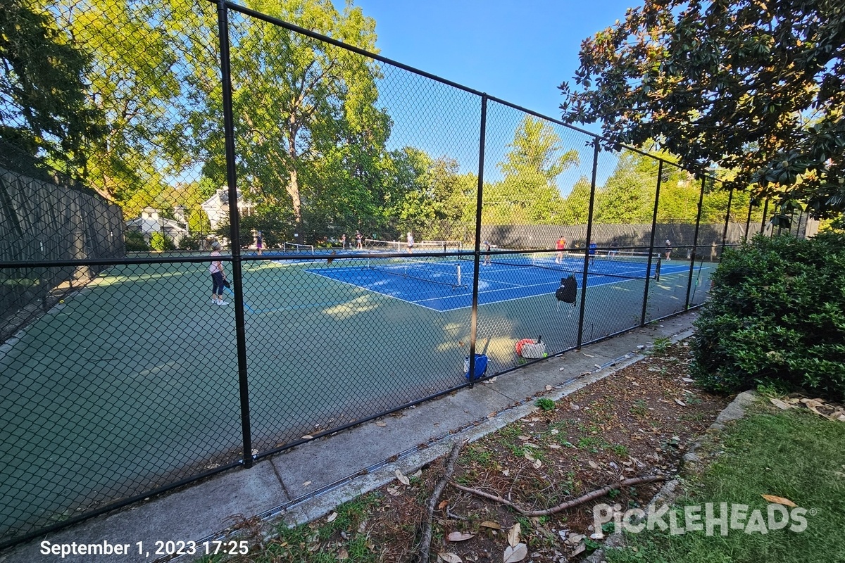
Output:
<svg viewBox="0 0 845 563">
<path fill-rule="evenodd" d="M 771 234 L 358 8 L 266 9 L 0 12 L 0 546 L 686 311 Z"/>
</svg>

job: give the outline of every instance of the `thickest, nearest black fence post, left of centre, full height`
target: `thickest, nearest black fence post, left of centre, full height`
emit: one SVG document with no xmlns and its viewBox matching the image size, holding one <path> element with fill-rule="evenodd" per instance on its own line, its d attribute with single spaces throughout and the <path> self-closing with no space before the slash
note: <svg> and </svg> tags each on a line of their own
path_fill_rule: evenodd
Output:
<svg viewBox="0 0 845 563">
<path fill-rule="evenodd" d="M 241 398 L 243 465 L 253 466 L 252 431 L 249 425 L 249 383 L 247 379 L 247 336 L 243 317 L 243 276 L 241 237 L 237 209 L 235 171 L 235 123 L 232 115 L 232 68 L 229 65 L 229 17 L 225 0 L 217 3 L 217 29 L 220 34 L 220 70 L 223 89 L 223 134 L 226 140 L 226 184 L 229 187 L 229 238 L 232 241 L 232 291 L 235 294 L 235 338 L 237 341 L 237 380 Z"/>
</svg>

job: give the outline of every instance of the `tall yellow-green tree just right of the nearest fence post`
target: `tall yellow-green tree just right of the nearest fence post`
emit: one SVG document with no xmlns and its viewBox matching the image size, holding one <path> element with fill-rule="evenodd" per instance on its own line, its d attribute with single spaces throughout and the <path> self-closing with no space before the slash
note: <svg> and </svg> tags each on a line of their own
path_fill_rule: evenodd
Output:
<svg viewBox="0 0 845 563">
<path fill-rule="evenodd" d="M 368 51 L 375 22 L 330 0 L 255 0 L 252 8 Z M 273 24 L 248 21 L 233 30 L 232 103 L 239 178 L 271 203 L 285 201 L 302 225 L 303 206 L 319 188 L 317 164 L 342 161 L 367 185 L 390 118 L 375 107 L 379 68 L 370 59 Z M 317 196 L 315 196 L 317 197 Z"/>
</svg>

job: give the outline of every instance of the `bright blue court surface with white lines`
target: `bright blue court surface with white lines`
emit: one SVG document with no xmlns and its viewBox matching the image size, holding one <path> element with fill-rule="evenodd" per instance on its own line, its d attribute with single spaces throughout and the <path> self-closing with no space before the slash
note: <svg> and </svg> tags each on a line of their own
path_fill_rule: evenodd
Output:
<svg viewBox="0 0 845 563">
<path fill-rule="evenodd" d="M 551 295 L 558 289 L 561 278 L 570 273 L 575 275 L 580 288 L 583 265 L 583 257 L 564 257 L 560 263 L 555 262 L 553 255 L 496 257 L 493 263 L 480 265 L 478 304 Z M 473 266 L 472 260 L 456 257 L 394 257 L 368 259 L 365 263 L 335 260 L 331 265 L 305 271 L 443 312 L 472 306 Z M 695 270 L 698 268 L 696 265 Z M 639 257 L 597 257 L 588 268 L 587 285 L 597 287 L 636 280 L 642 283 L 646 277 L 653 279 L 656 269 L 657 260 L 649 269 L 647 262 Z M 689 271 L 690 264 L 685 262 L 663 262 L 660 266 L 661 276 Z"/>
</svg>

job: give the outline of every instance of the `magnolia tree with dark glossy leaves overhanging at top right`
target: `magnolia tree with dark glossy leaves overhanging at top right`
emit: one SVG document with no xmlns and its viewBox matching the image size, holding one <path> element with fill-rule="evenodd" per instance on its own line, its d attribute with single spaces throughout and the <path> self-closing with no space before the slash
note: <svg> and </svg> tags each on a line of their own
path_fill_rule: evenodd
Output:
<svg viewBox="0 0 845 563">
<path fill-rule="evenodd" d="M 581 43 L 565 122 L 611 143 L 657 141 L 725 187 L 816 218 L 845 210 L 845 3 L 646 0 Z"/>
</svg>

